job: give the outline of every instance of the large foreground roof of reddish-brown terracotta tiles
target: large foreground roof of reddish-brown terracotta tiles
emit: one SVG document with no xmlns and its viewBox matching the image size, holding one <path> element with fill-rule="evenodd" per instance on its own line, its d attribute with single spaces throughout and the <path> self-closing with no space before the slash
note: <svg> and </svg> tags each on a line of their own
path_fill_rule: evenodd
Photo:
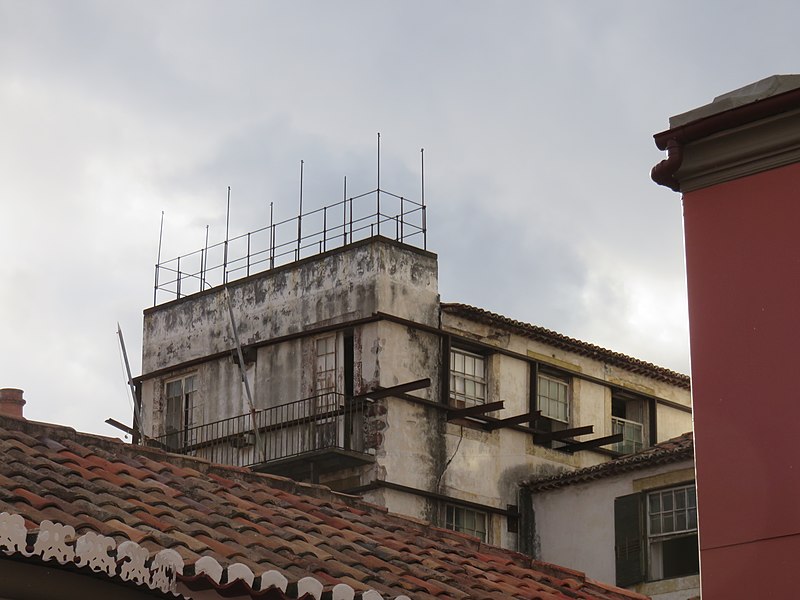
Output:
<svg viewBox="0 0 800 600">
<path fill-rule="evenodd" d="M 66 427 L 0 416 L 0 452 L 0 513 L 20 515 L 29 533 L 52 521 L 151 556 L 172 550 L 193 589 L 266 597 L 255 587 L 285 577 L 287 594 L 318 600 L 352 590 L 365 600 L 644 598 L 322 486 Z M 195 575 L 217 562 L 227 575 Z"/>
</svg>

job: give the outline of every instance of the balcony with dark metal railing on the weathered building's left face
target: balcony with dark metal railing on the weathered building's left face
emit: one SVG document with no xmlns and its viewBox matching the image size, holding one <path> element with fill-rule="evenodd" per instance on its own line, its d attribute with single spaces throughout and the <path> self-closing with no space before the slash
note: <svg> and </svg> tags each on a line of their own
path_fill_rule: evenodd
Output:
<svg viewBox="0 0 800 600">
<path fill-rule="evenodd" d="M 150 440 L 169 452 L 293 479 L 372 462 L 365 413 L 372 400 L 326 393 Z"/>
</svg>

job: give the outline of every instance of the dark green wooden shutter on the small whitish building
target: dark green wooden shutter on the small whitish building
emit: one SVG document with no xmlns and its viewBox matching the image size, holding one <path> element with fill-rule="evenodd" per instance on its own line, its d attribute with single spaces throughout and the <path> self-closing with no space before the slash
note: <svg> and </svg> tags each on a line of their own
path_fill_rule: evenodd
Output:
<svg viewBox="0 0 800 600">
<path fill-rule="evenodd" d="M 641 509 L 641 494 L 614 499 L 614 555 L 617 585 L 621 587 L 644 581 L 644 533 Z"/>
</svg>

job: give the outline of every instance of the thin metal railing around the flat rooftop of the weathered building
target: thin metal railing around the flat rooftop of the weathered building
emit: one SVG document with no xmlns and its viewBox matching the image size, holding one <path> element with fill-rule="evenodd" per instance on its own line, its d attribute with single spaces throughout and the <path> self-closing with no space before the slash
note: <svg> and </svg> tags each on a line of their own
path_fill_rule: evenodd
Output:
<svg viewBox="0 0 800 600">
<path fill-rule="evenodd" d="M 427 249 L 425 202 L 380 188 L 206 246 L 155 266 L 153 305 L 375 235 Z"/>
</svg>

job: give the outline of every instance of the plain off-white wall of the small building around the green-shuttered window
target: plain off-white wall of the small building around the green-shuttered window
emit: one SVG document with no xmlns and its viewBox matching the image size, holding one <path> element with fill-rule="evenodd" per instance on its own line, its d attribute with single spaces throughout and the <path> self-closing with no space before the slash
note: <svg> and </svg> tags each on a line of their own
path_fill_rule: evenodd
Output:
<svg viewBox="0 0 800 600">
<path fill-rule="evenodd" d="M 683 461 L 569 485 L 532 495 L 536 558 L 568 565 L 614 584 L 614 499 L 637 491 L 693 480 L 694 463 Z M 678 477 L 676 477 L 676 475 Z M 687 600 L 700 594 L 699 576 L 678 577 L 632 588 L 654 600 Z"/>
</svg>

